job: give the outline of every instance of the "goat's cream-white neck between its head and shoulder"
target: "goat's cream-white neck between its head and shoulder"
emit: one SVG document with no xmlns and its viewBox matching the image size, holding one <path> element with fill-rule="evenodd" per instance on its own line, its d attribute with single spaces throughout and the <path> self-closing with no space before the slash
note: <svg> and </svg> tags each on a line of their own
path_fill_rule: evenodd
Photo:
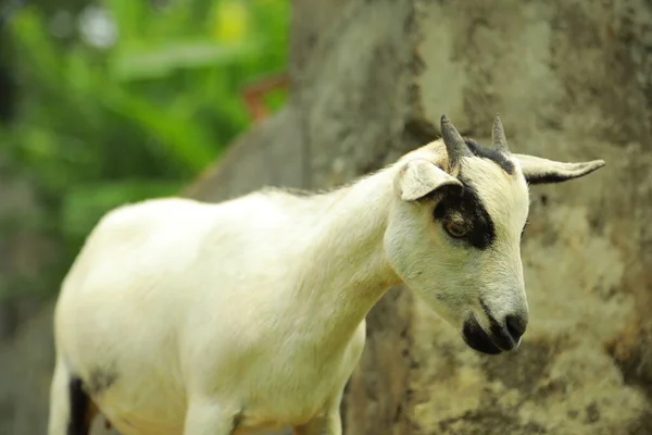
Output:
<svg viewBox="0 0 652 435">
<path fill-rule="evenodd" d="M 315 198 L 324 203 L 301 287 L 324 344 L 347 343 L 384 293 L 399 283 L 383 249 L 392 176 L 388 167 Z"/>
</svg>

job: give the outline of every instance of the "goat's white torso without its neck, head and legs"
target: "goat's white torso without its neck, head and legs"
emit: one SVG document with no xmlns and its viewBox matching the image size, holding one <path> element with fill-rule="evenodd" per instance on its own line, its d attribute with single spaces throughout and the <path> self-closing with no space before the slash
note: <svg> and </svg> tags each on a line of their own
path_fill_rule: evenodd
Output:
<svg viewBox="0 0 652 435">
<path fill-rule="evenodd" d="M 180 434 L 199 398 L 228 408 L 240 431 L 298 426 L 339 406 L 364 320 L 324 340 L 333 306 L 297 297 L 311 291 L 302 266 L 319 225 L 297 213 L 311 201 L 259 192 L 110 213 L 64 282 L 58 364 L 125 435 Z"/>
</svg>

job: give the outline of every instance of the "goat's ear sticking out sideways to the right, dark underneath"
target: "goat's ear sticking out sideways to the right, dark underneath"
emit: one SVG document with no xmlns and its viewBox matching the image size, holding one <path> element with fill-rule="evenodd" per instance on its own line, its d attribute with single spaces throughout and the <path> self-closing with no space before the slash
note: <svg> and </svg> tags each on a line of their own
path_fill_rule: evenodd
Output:
<svg viewBox="0 0 652 435">
<path fill-rule="evenodd" d="M 604 160 L 564 163 L 526 154 L 512 154 L 521 162 L 523 175 L 528 184 L 562 183 L 579 178 L 604 166 Z"/>
</svg>

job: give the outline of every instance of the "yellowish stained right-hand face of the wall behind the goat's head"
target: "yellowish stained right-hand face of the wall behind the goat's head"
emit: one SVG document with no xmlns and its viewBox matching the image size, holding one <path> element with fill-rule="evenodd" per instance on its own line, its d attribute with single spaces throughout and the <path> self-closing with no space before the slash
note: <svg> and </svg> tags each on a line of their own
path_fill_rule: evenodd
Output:
<svg viewBox="0 0 652 435">
<path fill-rule="evenodd" d="M 461 97 L 469 135 L 487 139 L 500 112 L 512 149 L 607 166 L 531 189 L 519 352 L 480 357 L 414 310 L 413 433 L 652 433 L 649 3 L 416 7 L 426 116 L 454 112 Z M 428 99 L 441 89 L 455 100 Z"/>
</svg>

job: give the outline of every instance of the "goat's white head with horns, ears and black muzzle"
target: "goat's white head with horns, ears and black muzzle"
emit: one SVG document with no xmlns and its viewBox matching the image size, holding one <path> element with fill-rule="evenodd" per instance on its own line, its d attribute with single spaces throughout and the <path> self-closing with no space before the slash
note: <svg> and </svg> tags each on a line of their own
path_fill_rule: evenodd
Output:
<svg viewBox="0 0 652 435">
<path fill-rule="evenodd" d="M 442 140 L 399 161 L 385 251 L 401 279 L 469 347 L 512 350 L 528 322 L 521 261 L 528 184 L 577 178 L 604 162 L 511 153 L 498 115 L 491 148 L 463 139 L 446 116 L 441 133 Z"/>
</svg>

